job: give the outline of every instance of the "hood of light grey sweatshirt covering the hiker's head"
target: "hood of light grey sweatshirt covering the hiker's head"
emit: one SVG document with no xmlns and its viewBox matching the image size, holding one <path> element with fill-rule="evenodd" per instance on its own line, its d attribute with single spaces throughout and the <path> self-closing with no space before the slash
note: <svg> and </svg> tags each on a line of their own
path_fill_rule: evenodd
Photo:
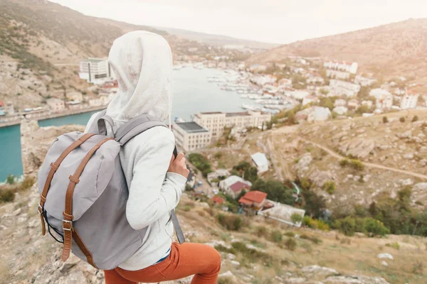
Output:
<svg viewBox="0 0 427 284">
<path fill-rule="evenodd" d="M 132 31 L 117 38 L 108 55 L 119 91 L 107 108 L 116 121 L 150 114 L 161 121 L 172 110 L 172 52 L 155 33 Z"/>
</svg>

